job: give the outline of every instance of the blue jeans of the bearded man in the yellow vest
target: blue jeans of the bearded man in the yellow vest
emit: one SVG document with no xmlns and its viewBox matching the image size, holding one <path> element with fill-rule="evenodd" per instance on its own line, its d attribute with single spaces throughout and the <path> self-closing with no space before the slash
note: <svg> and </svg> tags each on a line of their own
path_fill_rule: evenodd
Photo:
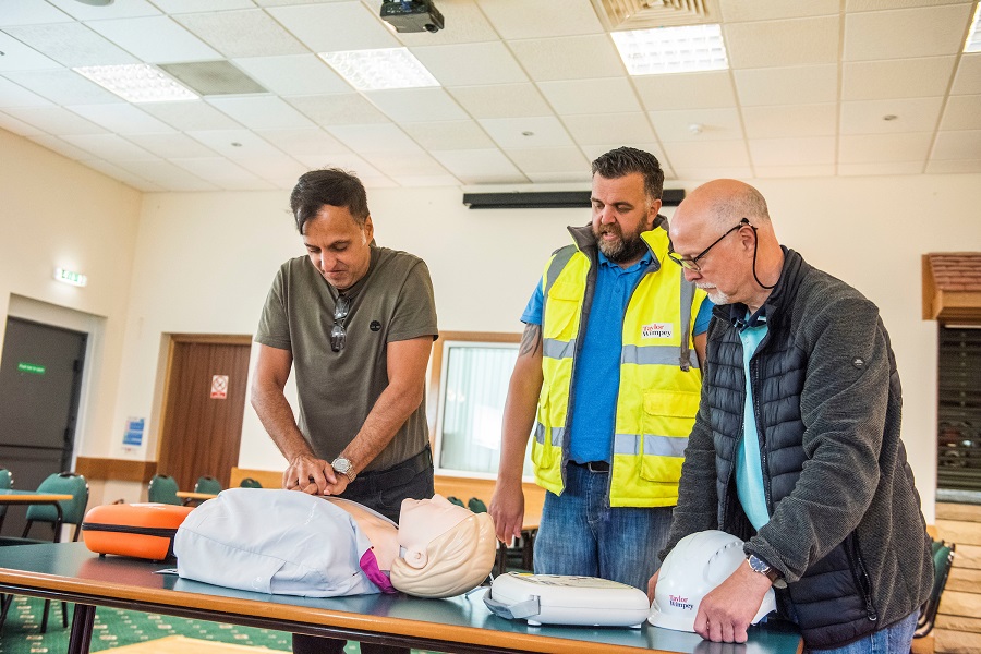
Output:
<svg viewBox="0 0 981 654">
<path fill-rule="evenodd" d="M 535 537 L 535 572 L 601 577 L 647 590 L 661 568 L 670 507 L 609 507 L 609 472 L 569 463 L 561 496 L 545 494 Z"/>
</svg>

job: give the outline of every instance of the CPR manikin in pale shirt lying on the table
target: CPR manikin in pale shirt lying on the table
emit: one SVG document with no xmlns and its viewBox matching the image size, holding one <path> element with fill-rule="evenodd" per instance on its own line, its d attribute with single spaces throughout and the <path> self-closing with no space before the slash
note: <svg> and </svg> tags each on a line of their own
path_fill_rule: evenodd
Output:
<svg viewBox="0 0 981 654">
<path fill-rule="evenodd" d="M 403 591 L 449 597 L 494 566 L 494 524 L 440 496 L 402 502 L 400 526 L 367 507 L 294 491 L 230 488 L 174 538 L 181 577 L 262 593 Z"/>
</svg>

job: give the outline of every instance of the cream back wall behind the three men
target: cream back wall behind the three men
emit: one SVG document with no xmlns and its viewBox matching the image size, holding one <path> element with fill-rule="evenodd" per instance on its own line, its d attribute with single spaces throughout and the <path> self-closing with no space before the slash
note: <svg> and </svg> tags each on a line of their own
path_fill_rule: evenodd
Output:
<svg viewBox="0 0 981 654">
<path fill-rule="evenodd" d="M 694 184 L 686 184 L 688 189 Z M 933 520 L 936 325 L 920 318 L 920 255 L 981 250 L 981 175 L 766 180 L 782 242 L 882 310 L 905 388 L 904 437 Z M 520 331 L 565 226 L 588 210 L 469 210 L 457 189 L 370 190 L 379 244 L 429 265 L 444 330 Z M 279 264 L 303 253 L 288 192 L 149 194 L 141 216 L 116 422 L 152 415 L 164 332 L 252 334 Z M 156 425 L 150 426 L 155 434 Z M 119 440 L 119 438 L 117 438 Z M 155 444 L 147 458 L 154 458 Z M 105 456 L 117 456 L 112 448 Z M 240 464 L 282 459 L 250 408 Z"/>
</svg>

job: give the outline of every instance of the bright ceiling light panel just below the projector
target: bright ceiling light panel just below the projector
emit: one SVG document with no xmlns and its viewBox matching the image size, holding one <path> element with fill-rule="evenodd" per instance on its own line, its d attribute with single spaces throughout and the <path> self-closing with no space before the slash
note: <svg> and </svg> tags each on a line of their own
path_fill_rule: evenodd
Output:
<svg viewBox="0 0 981 654">
<path fill-rule="evenodd" d="M 439 86 L 408 48 L 319 52 L 319 57 L 358 90 Z"/>
</svg>

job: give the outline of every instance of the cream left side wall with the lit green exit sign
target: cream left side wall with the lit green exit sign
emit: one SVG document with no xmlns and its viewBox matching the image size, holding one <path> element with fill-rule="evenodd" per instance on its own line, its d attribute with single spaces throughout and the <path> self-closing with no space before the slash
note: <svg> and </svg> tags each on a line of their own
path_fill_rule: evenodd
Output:
<svg viewBox="0 0 981 654">
<path fill-rule="evenodd" d="M 0 130 L 0 347 L 7 315 L 88 331 L 76 453 L 99 456 L 121 367 L 142 194 Z M 56 267 L 88 276 L 76 288 Z M 71 311 L 68 311 L 71 310 Z"/>
</svg>

